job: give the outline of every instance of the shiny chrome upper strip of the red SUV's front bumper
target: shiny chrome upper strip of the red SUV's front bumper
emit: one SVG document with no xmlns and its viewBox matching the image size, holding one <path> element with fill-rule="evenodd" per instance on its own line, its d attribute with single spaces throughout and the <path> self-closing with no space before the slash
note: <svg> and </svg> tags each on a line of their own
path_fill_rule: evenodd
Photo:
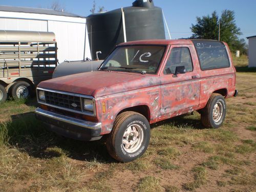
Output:
<svg viewBox="0 0 256 192">
<path fill-rule="evenodd" d="M 76 126 L 80 126 L 83 128 L 87 128 L 87 129 L 101 129 L 101 123 L 94 123 L 94 122 L 90 122 L 90 121 L 83 121 L 80 119 L 75 119 L 72 117 L 67 117 L 64 115 L 59 115 L 53 112 L 49 112 L 46 110 L 42 110 L 40 108 L 36 108 L 35 113 L 38 115 L 42 115 L 48 118 L 52 118 L 58 121 L 62 121 L 65 123 L 69 123 L 69 124 L 73 124 Z"/>
</svg>

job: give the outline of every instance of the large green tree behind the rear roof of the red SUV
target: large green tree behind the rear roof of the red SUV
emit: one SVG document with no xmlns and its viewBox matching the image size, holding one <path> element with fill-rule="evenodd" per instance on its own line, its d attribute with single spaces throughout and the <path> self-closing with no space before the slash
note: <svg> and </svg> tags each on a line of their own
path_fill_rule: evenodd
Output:
<svg viewBox="0 0 256 192">
<path fill-rule="evenodd" d="M 221 17 L 214 11 L 211 15 L 197 17 L 197 24 L 190 28 L 194 33 L 191 38 L 199 39 L 214 39 L 219 38 L 220 25 L 220 40 L 227 42 L 231 51 L 240 50 L 242 53 L 246 52 L 246 43 L 244 39 L 239 39 L 241 30 L 236 25 L 234 19 L 234 12 L 230 10 L 222 11 Z"/>
</svg>

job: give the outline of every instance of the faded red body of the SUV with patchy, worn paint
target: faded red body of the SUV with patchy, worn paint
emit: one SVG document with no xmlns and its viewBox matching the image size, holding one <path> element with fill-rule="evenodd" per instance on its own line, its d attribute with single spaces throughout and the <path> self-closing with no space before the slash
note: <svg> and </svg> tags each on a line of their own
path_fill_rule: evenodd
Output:
<svg viewBox="0 0 256 192">
<path fill-rule="evenodd" d="M 90 115 L 76 117 L 75 114 L 73 116 L 84 121 L 101 123 L 99 136 L 109 134 L 112 131 L 117 115 L 123 111 L 139 112 L 150 123 L 155 123 L 203 109 L 212 93 L 220 93 L 225 98 L 234 95 L 236 70 L 232 65 L 231 54 L 225 43 L 223 45 L 228 55 L 229 67 L 210 70 L 201 69 L 200 59 L 191 40 L 142 40 L 123 43 L 118 47 L 127 46 L 129 48 L 129 46 L 143 45 L 165 46 L 165 51 L 155 74 L 135 73 L 125 70 L 113 71 L 112 68 L 114 67 L 110 64 L 109 68 L 111 70 L 106 69 L 59 77 L 41 82 L 38 88 L 49 89 L 52 92 L 57 90 L 69 94 L 93 97 L 95 99 L 93 117 L 90 117 Z M 188 68 L 187 71 L 181 74 L 168 73 L 167 63 L 172 59 L 180 59 L 177 55 L 181 57 L 183 53 L 189 53 L 190 58 L 184 56 L 184 60 L 189 61 L 192 68 Z M 151 55 L 153 54 L 144 53 L 144 57 L 142 57 L 142 54 L 139 58 L 142 62 L 147 62 Z M 173 55 L 176 55 L 176 58 L 173 58 Z M 128 60 L 129 57 L 127 55 L 126 57 Z M 188 65 L 187 62 L 183 61 L 179 65 L 182 66 L 183 63 Z M 127 66 L 130 67 L 128 64 L 127 62 Z M 83 104 L 82 99 L 81 97 L 81 105 Z M 55 111 L 54 105 L 49 105 L 47 101 L 43 102 L 38 99 L 38 102 L 41 104 L 41 108 Z M 72 104 L 75 105 L 76 103 Z M 56 108 L 59 109 L 58 106 Z M 65 115 L 66 112 L 62 110 L 61 113 Z M 79 113 L 82 114 L 83 109 Z"/>
</svg>

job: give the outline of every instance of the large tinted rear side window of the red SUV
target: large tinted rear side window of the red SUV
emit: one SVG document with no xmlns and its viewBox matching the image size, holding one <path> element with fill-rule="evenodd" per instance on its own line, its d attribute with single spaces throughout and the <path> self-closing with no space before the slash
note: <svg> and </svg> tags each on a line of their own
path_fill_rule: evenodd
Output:
<svg viewBox="0 0 256 192">
<path fill-rule="evenodd" d="M 228 68 L 227 51 L 220 41 L 193 40 L 197 50 L 201 70 Z"/>
</svg>

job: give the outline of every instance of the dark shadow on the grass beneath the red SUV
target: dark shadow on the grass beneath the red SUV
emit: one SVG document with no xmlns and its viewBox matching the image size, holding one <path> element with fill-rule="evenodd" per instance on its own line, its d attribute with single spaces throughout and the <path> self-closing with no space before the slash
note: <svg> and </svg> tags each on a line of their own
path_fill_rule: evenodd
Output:
<svg viewBox="0 0 256 192">
<path fill-rule="evenodd" d="M 157 126 L 170 124 L 202 129 L 199 119 L 187 119 L 186 115 L 152 124 L 152 129 Z M 6 123 L 9 144 L 19 151 L 28 153 L 29 156 L 39 159 L 52 159 L 65 155 L 80 161 L 97 161 L 101 163 L 117 162 L 108 154 L 104 137 L 98 141 L 78 141 L 46 130 L 46 124 L 35 119 L 34 112 L 12 115 L 11 121 Z"/>
</svg>

